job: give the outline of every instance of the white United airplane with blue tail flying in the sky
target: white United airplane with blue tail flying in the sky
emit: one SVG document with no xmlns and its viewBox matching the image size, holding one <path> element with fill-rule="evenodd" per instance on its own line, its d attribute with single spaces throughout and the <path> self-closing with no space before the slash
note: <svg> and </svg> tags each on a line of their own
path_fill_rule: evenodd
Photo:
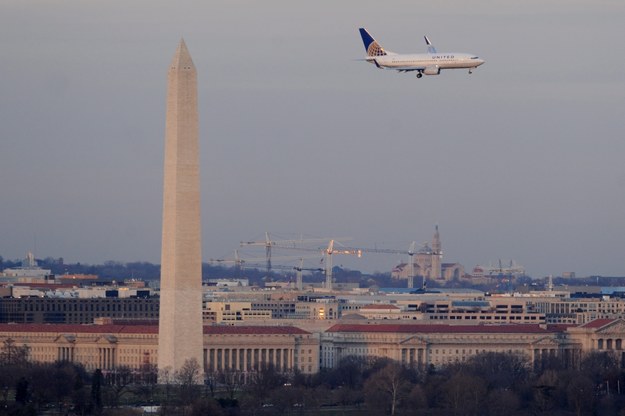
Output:
<svg viewBox="0 0 625 416">
<path fill-rule="evenodd" d="M 360 36 L 365 44 L 365 60 L 380 69 L 395 69 L 399 72 L 417 71 L 417 78 L 425 75 L 438 75 L 442 69 L 473 69 L 484 63 L 483 59 L 468 53 L 437 52 L 430 39 L 424 36 L 427 53 L 397 54 L 382 47 L 365 28 L 360 28 Z"/>
</svg>

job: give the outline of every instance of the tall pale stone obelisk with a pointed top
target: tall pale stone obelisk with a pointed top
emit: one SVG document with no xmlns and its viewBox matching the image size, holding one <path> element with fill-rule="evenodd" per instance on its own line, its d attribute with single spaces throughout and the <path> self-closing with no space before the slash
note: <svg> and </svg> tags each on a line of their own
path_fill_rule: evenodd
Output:
<svg viewBox="0 0 625 416">
<path fill-rule="evenodd" d="M 184 40 L 167 81 L 158 368 L 171 376 L 191 359 L 203 373 L 197 75 Z"/>
</svg>

